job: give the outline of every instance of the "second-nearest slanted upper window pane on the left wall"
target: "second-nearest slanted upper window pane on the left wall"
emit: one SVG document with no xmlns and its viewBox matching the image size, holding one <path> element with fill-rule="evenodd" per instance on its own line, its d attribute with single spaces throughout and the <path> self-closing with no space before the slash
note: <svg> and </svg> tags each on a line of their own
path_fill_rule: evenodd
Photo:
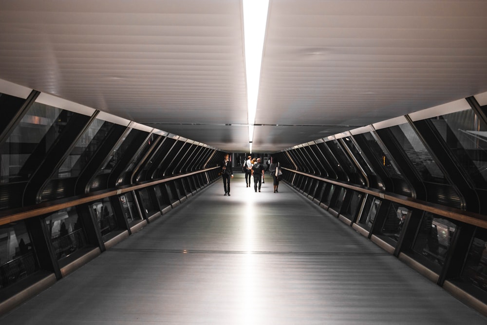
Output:
<svg viewBox="0 0 487 325">
<path fill-rule="evenodd" d="M 95 119 L 76 142 L 75 148 L 59 168 L 59 178 L 75 177 L 85 168 L 98 147 L 103 143 L 113 123 Z"/>
</svg>

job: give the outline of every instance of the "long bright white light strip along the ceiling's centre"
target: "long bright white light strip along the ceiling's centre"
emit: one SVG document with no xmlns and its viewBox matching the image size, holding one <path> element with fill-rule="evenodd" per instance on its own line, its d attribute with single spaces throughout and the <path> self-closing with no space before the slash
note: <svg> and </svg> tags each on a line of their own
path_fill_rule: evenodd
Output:
<svg viewBox="0 0 487 325">
<path fill-rule="evenodd" d="M 244 46 L 247 76 L 248 140 L 254 136 L 255 111 L 261 79 L 262 50 L 267 24 L 268 0 L 244 0 Z"/>
</svg>

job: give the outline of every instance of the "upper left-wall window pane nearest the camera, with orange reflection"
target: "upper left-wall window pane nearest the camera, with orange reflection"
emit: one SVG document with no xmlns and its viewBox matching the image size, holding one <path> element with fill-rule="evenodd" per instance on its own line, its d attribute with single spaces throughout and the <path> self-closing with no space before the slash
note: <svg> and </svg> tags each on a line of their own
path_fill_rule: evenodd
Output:
<svg viewBox="0 0 487 325">
<path fill-rule="evenodd" d="M 73 113 L 34 103 L 0 148 L 0 181 L 10 183 L 28 180 Z M 24 166 L 32 153 L 35 164 Z"/>
</svg>

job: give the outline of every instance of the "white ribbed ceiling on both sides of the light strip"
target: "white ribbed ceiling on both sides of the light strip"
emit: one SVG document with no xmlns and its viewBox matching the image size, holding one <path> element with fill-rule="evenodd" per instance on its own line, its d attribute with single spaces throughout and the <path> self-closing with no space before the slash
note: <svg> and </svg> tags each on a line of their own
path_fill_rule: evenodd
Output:
<svg viewBox="0 0 487 325">
<path fill-rule="evenodd" d="M 485 0 L 270 0 L 254 151 L 486 92 L 486 40 Z M 240 0 L 0 4 L 0 79 L 226 151 L 243 54 Z"/>
</svg>

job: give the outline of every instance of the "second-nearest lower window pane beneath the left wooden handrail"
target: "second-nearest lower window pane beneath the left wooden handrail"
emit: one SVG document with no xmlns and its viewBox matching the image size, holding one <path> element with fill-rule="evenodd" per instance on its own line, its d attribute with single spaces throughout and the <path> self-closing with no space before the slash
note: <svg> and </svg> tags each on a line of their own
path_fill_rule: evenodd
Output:
<svg viewBox="0 0 487 325">
<path fill-rule="evenodd" d="M 86 234 L 74 207 L 51 214 L 45 223 L 58 260 L 86 247 Z"/>
</svg>

